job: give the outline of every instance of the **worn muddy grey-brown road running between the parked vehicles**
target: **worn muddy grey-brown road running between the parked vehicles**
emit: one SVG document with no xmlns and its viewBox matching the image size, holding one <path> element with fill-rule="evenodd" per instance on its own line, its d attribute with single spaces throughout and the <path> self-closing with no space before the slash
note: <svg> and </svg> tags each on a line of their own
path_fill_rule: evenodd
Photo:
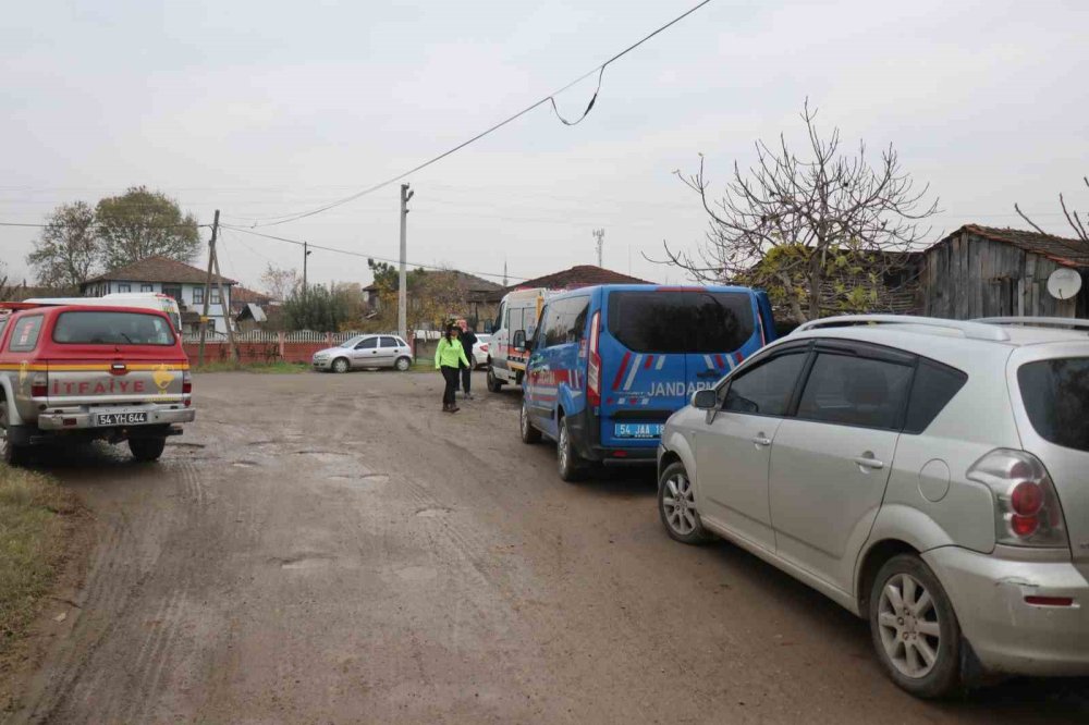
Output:
<svg viewBox="0 0 1089 725">
<path fill-rule="evenodd" d="M 652 471 L 563 483 L 482 383 L 198 376 L 158 465 L 50 457 L 95 544 L 13 721 L 1089 722 L 1085 680 L 902 693 L 864 622 L 668 539 Z"/>
</svg>

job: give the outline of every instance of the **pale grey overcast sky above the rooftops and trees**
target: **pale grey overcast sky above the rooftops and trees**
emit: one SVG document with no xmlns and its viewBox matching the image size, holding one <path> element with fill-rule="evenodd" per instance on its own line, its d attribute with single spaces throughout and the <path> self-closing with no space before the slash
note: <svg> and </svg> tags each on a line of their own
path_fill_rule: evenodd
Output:
<svg viewBox="0 0 1089 725">
<path fill-rule="evenodd" d="M 562 87 L 696 0 L 100 0 L 17 3 L 0 23 L 0 221 L 137 184 L 203 222 L 320 206 L 393 176 Z M 1062 233 L 1057 193 L 1089 210 L 1089 2 L 712 0 L 610 65 L 580 125 L 542 107 L 409 180 L 411 262 L 512 281 L 594 263 L 653 281 L 643 259 L 701 242 L 698 198 L 752 142 L 796 138 L 804 99 L 825 128 L 873 148 L 940 197 L 934 236 L 1017 226 Z M 587 81 L 558 98 L 577 116 Z M 397 255 L 396 185 L 264 230 Z M 37 230 L 0 228 L 17 279 Z M 207 232 L 205 232 L 207 235 Z M 294 246 L 227 233 L 223 273 L 256 285 Z M 318 251 L 310 279 L 369 281 Z M 495 278 L 492 278 L 495 279 Z"/>
</svg>

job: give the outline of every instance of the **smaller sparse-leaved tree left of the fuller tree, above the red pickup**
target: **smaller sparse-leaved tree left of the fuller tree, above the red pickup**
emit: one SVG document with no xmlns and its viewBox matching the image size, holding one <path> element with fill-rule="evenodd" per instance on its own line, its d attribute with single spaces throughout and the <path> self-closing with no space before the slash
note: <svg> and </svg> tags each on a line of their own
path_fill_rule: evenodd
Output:
<svg viewBox="0 0 1089 725">
<path fill-rule="evenodd" d="M 95 210 L 84 201 L 57 207 L 26 257 L 38 284 L 68 291 L 79 288 L 98 266 Z"/>
</svg>

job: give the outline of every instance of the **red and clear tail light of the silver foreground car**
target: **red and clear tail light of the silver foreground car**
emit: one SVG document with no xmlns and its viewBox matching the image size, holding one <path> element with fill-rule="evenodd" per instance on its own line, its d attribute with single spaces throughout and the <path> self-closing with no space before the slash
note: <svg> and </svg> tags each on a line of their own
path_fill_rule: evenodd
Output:
<svg viewBox="0 0 1089 725">
<path fill-rule="evenodd" d="M 1014 546 L 1068 546 L 1066 521 L 1048 469 L 1031 453 L 999 448 L 968 469 L 991 489 L 994 538 Z"/>
</svg>

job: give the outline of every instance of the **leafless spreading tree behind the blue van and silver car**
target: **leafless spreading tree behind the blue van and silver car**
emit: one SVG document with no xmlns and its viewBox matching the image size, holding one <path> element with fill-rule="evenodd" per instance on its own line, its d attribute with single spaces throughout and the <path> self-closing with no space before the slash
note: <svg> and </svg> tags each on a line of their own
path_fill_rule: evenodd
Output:
<svg viewBox="0 0 1089 725">
<path fill-rule="evenodd" d="M 841 151 L 840 130 L 822 138 L 816 109 L 802 112 L 809 159 L 799 159 L 780 135 L 775 147 L 756 143 L 757 162 L 743 173 L 734 162 L 724 196 L 711 201 L 699 171 L 677 176 L 700 195 L 710 216 L 706 242 L 695 253 L 665 245 L 666 263 L 701 281 L 762 286 L 798 321 L 873 305 L 886 271 L 903 265 L 938 212 L 926 204 L 929 185 L 915 188 L 892 145 L 871 167 L 865 143 Z"/>
</svg>

